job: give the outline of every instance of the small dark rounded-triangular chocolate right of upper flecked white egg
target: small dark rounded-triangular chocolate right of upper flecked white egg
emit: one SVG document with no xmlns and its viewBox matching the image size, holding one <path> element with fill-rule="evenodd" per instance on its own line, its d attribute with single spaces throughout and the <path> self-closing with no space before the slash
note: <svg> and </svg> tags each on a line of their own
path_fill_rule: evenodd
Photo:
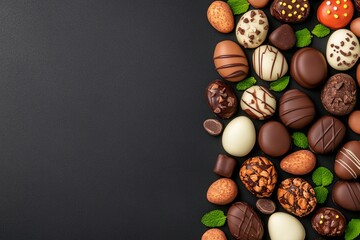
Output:
<svg viewBox="0 0 360 240">
<path fill-rule="evenodd" d="M 289 24 L 282 24 L 270 34 L 269 41 L 278 49 L 286 51 L 295 46 L 296 36 Z"/>
</svg>

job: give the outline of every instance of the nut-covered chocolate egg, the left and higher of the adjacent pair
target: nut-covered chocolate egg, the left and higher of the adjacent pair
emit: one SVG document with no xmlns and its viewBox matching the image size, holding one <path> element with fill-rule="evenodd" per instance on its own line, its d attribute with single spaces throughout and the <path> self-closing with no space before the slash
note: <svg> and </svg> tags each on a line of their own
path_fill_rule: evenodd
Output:
<svg viewBox="0 0 360 240">
<path fill-rule="evenodd" d="M 246 160 L 239 172 L 240 180 L 256 197 L 270 197 L 277 182 L 274 164 L 266 157 Z"/>
</svg>

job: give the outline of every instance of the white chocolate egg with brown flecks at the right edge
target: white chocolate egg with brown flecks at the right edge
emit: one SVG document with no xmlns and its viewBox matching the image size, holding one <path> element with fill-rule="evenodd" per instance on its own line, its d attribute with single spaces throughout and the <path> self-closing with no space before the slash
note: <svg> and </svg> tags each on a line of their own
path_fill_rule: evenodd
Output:
<svg viewBox="0 0 360 240">
<path fill-rule="evenodd" d="M 330 66 L 339 71 L 352 68 L 360 56 L 357 37 L 347 29 L 331 34 L 326 46 L 326 59 Z"/>
</svg>

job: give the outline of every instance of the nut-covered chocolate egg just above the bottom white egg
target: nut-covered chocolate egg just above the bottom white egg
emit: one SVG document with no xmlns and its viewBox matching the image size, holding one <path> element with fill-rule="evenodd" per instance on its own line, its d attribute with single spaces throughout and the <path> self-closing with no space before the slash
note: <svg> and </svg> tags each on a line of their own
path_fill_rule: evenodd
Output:
<svg viewBox="0 0 360 240">
<path fill-rule="evenodd" d="M 314 189 L 302 178 L 288 178 L 282 181 L 277 197 L 286 211 L 299 217 L 314 211 L 317 203 Z"/>
</svg>

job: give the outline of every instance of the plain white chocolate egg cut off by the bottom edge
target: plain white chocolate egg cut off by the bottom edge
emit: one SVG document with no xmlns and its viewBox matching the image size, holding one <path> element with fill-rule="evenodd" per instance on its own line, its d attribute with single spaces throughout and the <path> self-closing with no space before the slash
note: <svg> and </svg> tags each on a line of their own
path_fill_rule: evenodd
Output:
<svg viewBox="0 0 360 240">
<path fill-rule="evenodd" d="M 306 235 L 301 222 L 283 212 L 276 212 L 270 216 L 268 229 L 271 240 L 304 240 Z"/>
</svg>

